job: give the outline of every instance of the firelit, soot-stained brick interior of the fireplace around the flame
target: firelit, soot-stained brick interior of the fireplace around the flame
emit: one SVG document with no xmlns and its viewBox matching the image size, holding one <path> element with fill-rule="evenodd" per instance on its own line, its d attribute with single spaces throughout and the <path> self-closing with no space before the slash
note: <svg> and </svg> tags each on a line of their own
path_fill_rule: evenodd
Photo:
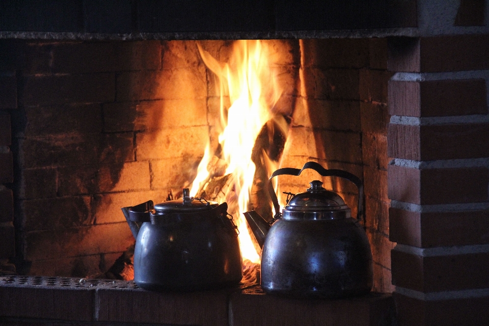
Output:
<svg viewBox="0 0 489 326">
<path fill-rule="evenodd" d="M 219 93 L 216 67 L 205 59 L 230 63 L 233 47 L 245 42 L 266 48 L 264 72 L 274 74 L 280 89 L 279 95 L 267 95 L 274 115 L 257 133 L 248 208 L 271 218 L 263 190 L 275 168 L 301 168 L 313 160 L 357 175 L 365 185 L 374 290 L 392 292 L 387 197 L 392 73 L 385 38 L 8 42 L 23 60 L 13 75 L 20 87 L 19 110 L 12 114 L 18 273 L 106 273 L 134 241 L 120 208 L 162 202 L 170 192 L 179 197 L 183 187 L 192 186 L 207 144 L 211 157 L 220 158 L 219 133 L 227 118 L 220 112 L 232 101 L 229 93 Z M 214 170 L 218 166 L 214 161 Z M 279 177 L 278 185 L 280 192 L 298 193 L 315 179 L 321 178 L 305 171 Z M 354 185 L 321 181 L 356 215 Z M 221 180 L 220 186 L 226 185 Z"/>
</svg>

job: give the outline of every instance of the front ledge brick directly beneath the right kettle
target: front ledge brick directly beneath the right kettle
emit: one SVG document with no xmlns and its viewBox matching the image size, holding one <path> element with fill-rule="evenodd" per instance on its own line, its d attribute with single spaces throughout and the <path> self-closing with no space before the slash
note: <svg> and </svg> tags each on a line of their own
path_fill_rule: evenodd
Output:
<svg viewBox="0 0 489 326">
<path fill-rule="evenodd" d="M 377 325 L 392 322 L 394 305 L 389 294 L 370 293 L 344 300 L 299 300 L 265 295 L 259 286 L 254 286 L 231 295 L 229 316 L 230 324 L 235 326 Z"/>
</svg>

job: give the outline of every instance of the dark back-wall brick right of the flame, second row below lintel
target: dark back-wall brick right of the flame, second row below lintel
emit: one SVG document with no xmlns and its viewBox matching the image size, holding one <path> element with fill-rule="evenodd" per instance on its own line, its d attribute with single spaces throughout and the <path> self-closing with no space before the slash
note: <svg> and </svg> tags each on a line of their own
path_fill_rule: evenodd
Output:
<svg viewBox="0 0 489 326">
<path fill-rule="evenodd" d="M 356 69 L 304 69 L 301 96 L 325 100 L 359 100 L 359 71 Z"/>
</svg>

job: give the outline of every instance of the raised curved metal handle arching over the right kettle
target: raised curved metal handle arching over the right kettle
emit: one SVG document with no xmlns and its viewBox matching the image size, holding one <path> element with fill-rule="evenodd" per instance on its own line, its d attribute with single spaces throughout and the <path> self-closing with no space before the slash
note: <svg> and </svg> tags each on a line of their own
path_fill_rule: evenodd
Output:
<svg viewBox="0 0 489 326">
<path fill-rule="evenodd" d="M 302 169 L 294 169 L 294 168 L 282 168 L 276 170 L 271 177 L 268 179 L 268 184 L 267 184 L 267 190 L 268 194 L 270 195 L 271 201 L 274 203 L 275 207 L 275 216 L 274 220 L 277 220 L 280 218 L 282 215 L 280 213 L 280 205 L 279 205 L 279 200 L 277 198 L 277 195 L 275 194 L 274 186 L 271 183 L 271 179 L 278 175 L 294 175 L 294 176 L 299 176 L 301 175 L 302 171 L 306 169 L 312 169 L 319 173 L 323 177 L 340 177 L 343 179 L 346 179 L 352 183 L 355 183 L 355 185 L 358 188 L 358 210 L 357 210 L 357 220 L 361 221 L 362 217 L 365 219 L 364 212 L 363 212 L 363 183 L 362 180 L 360 180 L 359 177 L 357 177 L 354 174 L 351 174 L 349 172 L 343 171 L 343 170 L 328 170 L 324 169 L 319 163 L 316 162 L 307 162 Z"/>
</svg>

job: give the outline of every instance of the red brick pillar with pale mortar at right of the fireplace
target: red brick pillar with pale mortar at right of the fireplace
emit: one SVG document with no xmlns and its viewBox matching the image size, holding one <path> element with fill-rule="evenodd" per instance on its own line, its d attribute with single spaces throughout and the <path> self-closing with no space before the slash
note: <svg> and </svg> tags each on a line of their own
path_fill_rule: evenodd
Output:
<svg viewBox="0 0 489 326">
<path fill-rule="evenodd" d="M 393 38 L 388 167 L 400 325 L 489 322 L 489 36 Z"/>
</svg>

